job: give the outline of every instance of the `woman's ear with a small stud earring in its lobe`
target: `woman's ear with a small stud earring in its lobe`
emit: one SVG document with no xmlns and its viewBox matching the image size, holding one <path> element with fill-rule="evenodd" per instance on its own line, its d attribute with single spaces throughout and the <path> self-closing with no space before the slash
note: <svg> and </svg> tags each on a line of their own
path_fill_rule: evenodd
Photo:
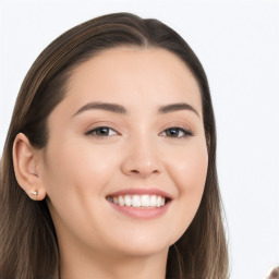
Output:
<svg viewBox="0 0 279 279">
<path fill-rule="evenodd" d="M 19 185 L 35 201 L 46 197 L 46 190 L 38 173 L 41 153 L 35 149 L 23 133 L 13 143 L 13 168 Z"/>
</svg>

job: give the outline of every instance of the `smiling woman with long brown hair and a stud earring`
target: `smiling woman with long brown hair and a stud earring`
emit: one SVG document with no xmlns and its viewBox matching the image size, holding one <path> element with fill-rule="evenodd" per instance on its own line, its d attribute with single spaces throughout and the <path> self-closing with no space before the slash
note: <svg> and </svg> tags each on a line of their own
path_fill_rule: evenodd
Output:
<svg viewBox="0 0 279 279">
<path fill-rule="evenodd" d="M 0 277 L 227 278 L 204 70 L 156 20 L 57 38 L 20 90 L 1 160 Z"/>
</svg>

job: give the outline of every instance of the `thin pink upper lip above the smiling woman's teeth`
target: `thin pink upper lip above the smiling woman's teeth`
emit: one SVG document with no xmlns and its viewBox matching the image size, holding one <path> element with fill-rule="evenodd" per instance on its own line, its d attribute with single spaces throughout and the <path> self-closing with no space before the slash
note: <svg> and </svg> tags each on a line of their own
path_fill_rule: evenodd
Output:
<svg viewBox="0 0 279 279">
<path fill-rule="evenodd" d="M 107 197 L 121 196 L 121 195 L 158 195 L 173 199 L 172 195 L 166 193 L 165 191 L 156 187 L 130 187 L 123 189 L 107 195 Z"/>
</svg>

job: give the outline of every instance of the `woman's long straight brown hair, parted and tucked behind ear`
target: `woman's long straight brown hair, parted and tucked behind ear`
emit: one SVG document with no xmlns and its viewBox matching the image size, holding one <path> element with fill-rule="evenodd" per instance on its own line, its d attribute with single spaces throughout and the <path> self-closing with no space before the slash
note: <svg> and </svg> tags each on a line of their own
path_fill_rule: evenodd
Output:
<svg viewBox="0 0 279 279">
<path fill-rule="evenodd" d="M 0 169 L 0 278 L 59 278 L 59 250 L 46 201 L 34 202 L 15 179 L 12 146 L 24 133 L 36 148 L 48 143 L 47 120 L 64 98 L 72 70 L 118 46 L 158 47 L 175 53 L 196 78 L 208 149 L 205 191 L 196 216 L 169 250 L 167 278 L 228 278 L 228 250 L 216 171 L 216 128 L 206 74 L 189 45 L 157 20 L 130 13 L 93 19 L 52 41 L 28 71 L 13 111 Z"/>
</svg>

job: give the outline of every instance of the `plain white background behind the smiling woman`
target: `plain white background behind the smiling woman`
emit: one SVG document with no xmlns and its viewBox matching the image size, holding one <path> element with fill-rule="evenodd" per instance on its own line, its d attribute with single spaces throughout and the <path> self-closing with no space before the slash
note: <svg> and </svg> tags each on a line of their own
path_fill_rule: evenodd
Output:
<svg viewBox="0 0 279 279">
<path fill-rule="evenodd" d="M 20 85 L 50 41 L 105 13 L 158 19 L 209 80 L 231 278 L 266 278 L 279 265 L 279 1 L 0 1 L 0 154 Z"/>
</svg>

